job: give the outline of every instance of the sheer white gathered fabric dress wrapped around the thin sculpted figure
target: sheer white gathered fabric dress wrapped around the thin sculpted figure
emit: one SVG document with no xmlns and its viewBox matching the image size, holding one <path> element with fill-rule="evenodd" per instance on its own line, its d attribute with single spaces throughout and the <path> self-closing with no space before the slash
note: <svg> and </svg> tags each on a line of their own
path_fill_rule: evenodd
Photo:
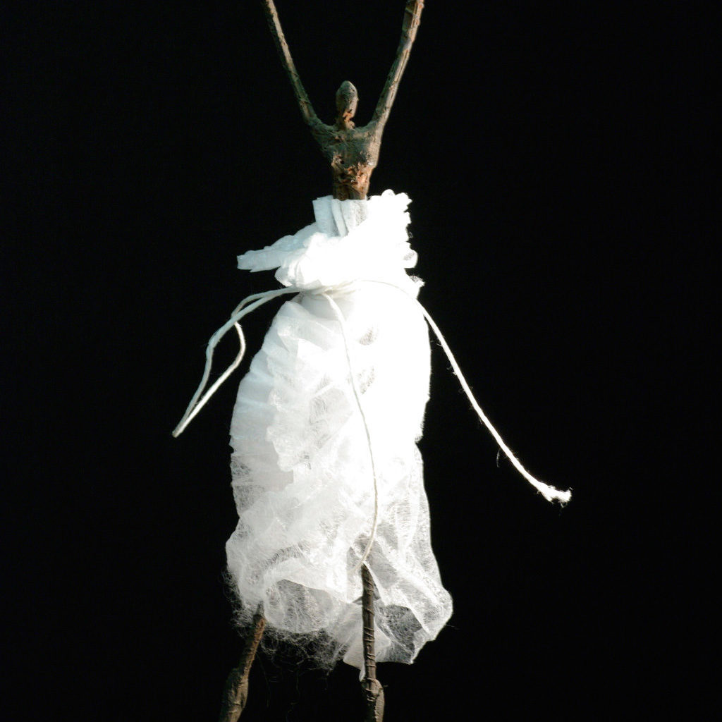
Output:
<svg viewBox="0 0 722 722">
<path fill-rule="evenodd" d="M 376 655 L 411 662 L 451 616 L 430 544 L 416 442 L 428 398 L 430 347 L 409 277 L 408 196 L 313 202 L 316 222 L 241 269 L 277 268 L 303 292 L 284 303 L 241 380 L 231 424 L 238 527 L 228 570 L 246 619 L 310 645 L 329 666 L 362 669 L 362 560 L 375 582 Z M 367 281 L 383 281 L 396 288 Z M 341 310 L 366 427 L 349 376 Z"/>
</svg>

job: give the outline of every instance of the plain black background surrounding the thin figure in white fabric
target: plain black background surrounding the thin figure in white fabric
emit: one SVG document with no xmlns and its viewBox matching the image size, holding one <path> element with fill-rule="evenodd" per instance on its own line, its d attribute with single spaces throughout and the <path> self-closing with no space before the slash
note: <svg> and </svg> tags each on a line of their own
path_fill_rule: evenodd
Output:
<svg viewBox="0 0 722 722">
<path fill-rule="evenodd" d="M 318 114 L 349 79 L 365 123 L 403 3 L 278 6 Z M 574 496 L 560 510 L 497 468 L 435 347 L 421 448 L 455 613 L 413 666 L 380 666 L 387 722 L 710 710 L 695 625 L 716 567 L 694 574 L 712 527 L 693 508 L 718 492 L 690 438 L 715 415 L 692 391 L 716 328 L 712 7 L 427 3 L 371 191 L 411 196 L 422 303 L 523 464 Z M 258 3 L 8 16 L 3 706 L 212 719 L 240 653 L 239 377 L 170 430 L 212 331 L 275 287 L 235 256 L 310 222 L 329 171 Z M 245 323 L 250 349 L 273 313 Z M 243 719 L 359 715 L 354 669 L 262 655 Z"/>
</svg>

